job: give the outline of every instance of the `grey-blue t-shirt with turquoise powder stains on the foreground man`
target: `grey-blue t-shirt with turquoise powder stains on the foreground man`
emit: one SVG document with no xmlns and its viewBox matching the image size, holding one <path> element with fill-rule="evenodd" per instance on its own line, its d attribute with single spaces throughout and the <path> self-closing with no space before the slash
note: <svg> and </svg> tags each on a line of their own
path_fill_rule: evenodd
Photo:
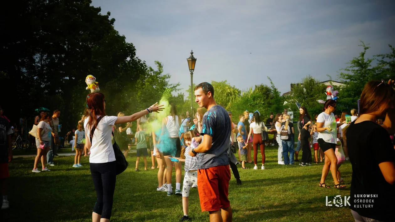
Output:
<svg viewBox="0 0 395 222">
<path fill-rule="evenodd" d="M 230 131 L 230 118 L 222 106 L 213 106 L 204 114 L 201 135 L 207 134 L 213 137 L 213 142 L 209 151 L 198 154 L 198 169 L 229 164 Z"/>
</svg>

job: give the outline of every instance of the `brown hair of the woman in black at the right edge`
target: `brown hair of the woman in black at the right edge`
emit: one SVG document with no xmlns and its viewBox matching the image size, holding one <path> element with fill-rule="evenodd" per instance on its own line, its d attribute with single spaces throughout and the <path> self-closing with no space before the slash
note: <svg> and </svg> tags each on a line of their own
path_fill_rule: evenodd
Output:
<svg viewBox="0 0 395 222">
<path fill-rule="evenodd" d="M 359 101 L 359 116 L 377 111 L 394 99 L 394 90 L 386 82 L 372 80 L 365 84 Z"/>
</svg>

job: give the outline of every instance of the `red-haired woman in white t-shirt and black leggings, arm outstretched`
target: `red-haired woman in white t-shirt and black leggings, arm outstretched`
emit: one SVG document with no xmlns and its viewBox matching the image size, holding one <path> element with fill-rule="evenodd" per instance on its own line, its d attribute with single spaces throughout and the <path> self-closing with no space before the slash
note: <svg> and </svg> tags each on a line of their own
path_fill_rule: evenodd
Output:
<svg viewBox="0 0 395 222">
<path fill-rule="evenodd" d="M 97 200 L 92 213 L 93 222 L 109 221 L 113 208 L 115 190 L 116 162 L 111 142 L 112 126 L 128 123 L 141 118 L 150 112 L 163 110 L 158 103 L 137 112 L 131 116 L 106 116 L 105 99 L 103 93 L 90 93 L 87 96 L 88 117 L 84 121 L 86 146 L 90 149 L 89 164 L 90 174 L 96 189 Z M 92 138 L 90 131 L 96 127 Z M 92 143 L 90 142 L 92 140 Z M 100 220 L 103 218 L 104 220 Z"/>
</svg>

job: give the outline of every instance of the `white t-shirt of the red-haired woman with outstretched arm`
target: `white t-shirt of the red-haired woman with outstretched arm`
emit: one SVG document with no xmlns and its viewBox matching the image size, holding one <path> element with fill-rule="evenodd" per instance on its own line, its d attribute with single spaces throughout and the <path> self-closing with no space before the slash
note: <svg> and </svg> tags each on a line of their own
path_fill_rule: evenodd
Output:
<svg viewBox="0 0 395 222">
<path fill-rule="evenodd" d="M 97 116 L 99 118 L 99 116 Z M 87 127 L 89 117 L 85 119 L 84 128 L 89 140 L 90 129 L 93 126 Z M 103 116 L 98 127 L 93 133 L 92 146 L 90 147 L 89 162 L 91 163 L 105 163 L 115 161 L 115 154 L 113 144 L 111 142 L 112 126 L 117 120 L 116 116 Z"/>
</svg>

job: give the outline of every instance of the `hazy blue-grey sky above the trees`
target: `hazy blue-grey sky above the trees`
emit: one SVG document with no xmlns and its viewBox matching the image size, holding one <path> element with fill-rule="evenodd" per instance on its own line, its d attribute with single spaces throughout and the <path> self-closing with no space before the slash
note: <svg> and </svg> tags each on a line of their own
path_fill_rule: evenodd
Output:
<svg viewBox="0 0 395 222">
<path fill-rule="evenodd" d="M 190 85 L 186 58 L 198 59 L 194 83 L 228 80 L 241 90 L 269 84 L 282 92 L 311 75 L 337 80 L 337 71 L 358 56 L 395 45 L 395 1 L 93 0 L 111 12 L 115 29 L 137 56 L 164 64 L 171 83 Z"/>
</svg>

